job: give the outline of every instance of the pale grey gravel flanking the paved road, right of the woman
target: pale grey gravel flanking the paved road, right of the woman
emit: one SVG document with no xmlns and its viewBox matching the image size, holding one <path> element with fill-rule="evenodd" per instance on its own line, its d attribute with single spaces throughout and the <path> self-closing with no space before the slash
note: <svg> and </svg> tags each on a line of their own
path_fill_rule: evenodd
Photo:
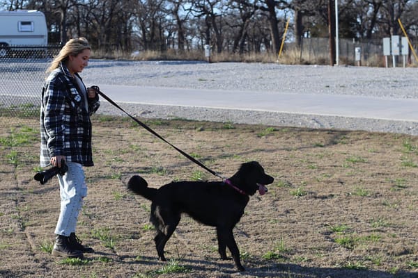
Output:
<svg viewBox="0 0 418 278">
<path fill-rule="evenodd" d="M 82 73 L 88 84 L 137 85 L 206 90 L 358 95 L 418 99 L 416 68 L 329 67 L 275 63 L 203 63 L 173 61 L 91 60 Z M 182 106 L 124 104 L 130 113 L 146 118 L 184 118 L 245 124 L 300 126 L 418 135 L 417 122 L 356 117 L 301 115 Z M 123 115 L 102 101 L 100 113 Z"/>
</svg>

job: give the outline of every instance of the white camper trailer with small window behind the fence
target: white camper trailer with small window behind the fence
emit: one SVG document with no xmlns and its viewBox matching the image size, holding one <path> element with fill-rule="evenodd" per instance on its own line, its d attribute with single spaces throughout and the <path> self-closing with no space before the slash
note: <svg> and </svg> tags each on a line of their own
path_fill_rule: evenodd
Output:
<svg viewBox="0 0 418 278">
<path fill-rule="evenodd" d="M 47 44 L 47 22 L 42 12 L 0 11 L 0 58 L 7 56 L 9 51 L 46 47 Z"/>
</svg>

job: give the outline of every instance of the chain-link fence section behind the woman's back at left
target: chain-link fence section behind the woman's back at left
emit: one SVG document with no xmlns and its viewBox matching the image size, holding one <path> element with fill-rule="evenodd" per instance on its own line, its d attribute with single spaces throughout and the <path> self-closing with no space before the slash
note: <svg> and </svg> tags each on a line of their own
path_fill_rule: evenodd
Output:
<svg viewBox="0 0 418 278">
<path fill-rule="evenodd" d="M 59 46 L 10 46 L 0 56 L 0 115 L 39 115 L 45 70 Z"/>
</svg>

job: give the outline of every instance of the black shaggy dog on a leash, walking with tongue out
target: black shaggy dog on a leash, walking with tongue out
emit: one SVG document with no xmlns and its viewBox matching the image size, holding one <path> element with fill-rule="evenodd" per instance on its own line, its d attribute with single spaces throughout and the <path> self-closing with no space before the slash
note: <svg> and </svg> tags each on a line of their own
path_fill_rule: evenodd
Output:
<svg viewBox="0 0 418 278">
<path fill-rule="evenodd" d="M 154 241 L 161 261 L 166 261 L 164 246 L 180 222 L 181 213 L 187 213 L 194 220 L 216 227 L 221 259 L 227 259 L 228 247 L 236 267 L 244 271 L 232 230 L 244 214 L 249 195 L 254 195 L 257 190 L 264 195 L 267 191 L 265 185 L 273 181 L 263 167 L 253 161 L 243 163 L 240 170 L 225 182 L 180 181 L 156 189 L 148 188 L 145 179 L 134 176 L 127 187 L 152 201 L 150 221 L 157 229 Z"/>
</svg>

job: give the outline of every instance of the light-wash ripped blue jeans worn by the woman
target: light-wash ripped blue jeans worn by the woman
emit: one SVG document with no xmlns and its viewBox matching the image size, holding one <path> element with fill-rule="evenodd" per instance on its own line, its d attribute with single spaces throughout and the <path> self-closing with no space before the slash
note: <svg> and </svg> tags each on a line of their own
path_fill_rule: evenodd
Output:
<svg viewBox="0 0 418 278">
<path fill-rule="evenodd" d="M 61 196 L 61 212 L 56 223 L 55 234 L 70 236 L 75 232 L 79 211 L 83 205 L 83 198 L 87 195 L 84 170 L 81 164 L 68 162 L 68 171 L 59 179 L 59 193 Z"/>
</svg>

